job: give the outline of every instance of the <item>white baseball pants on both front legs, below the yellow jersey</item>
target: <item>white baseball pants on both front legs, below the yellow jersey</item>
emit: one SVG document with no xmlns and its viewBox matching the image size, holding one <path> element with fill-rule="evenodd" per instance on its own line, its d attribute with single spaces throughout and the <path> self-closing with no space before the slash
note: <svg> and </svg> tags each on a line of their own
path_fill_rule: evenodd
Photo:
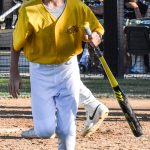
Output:
<svg viewBox="0 0 150 150">
<path fill-rule="evenodd" d="M 77 57 L 59 65 L 30 63 L 34 130 L 59 137 L 59 150 L 74 150 L 80 74 Z"/>
</svg>

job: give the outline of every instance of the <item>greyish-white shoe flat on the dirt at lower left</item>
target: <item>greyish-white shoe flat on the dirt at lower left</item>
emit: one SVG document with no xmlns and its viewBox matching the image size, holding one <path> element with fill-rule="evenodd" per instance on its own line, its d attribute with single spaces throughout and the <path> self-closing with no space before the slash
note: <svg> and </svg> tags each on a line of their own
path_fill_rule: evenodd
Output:
<svg viewBox="0 0 150 150">
<path fill-rule="evenodd" d="M 33 138 L 38 138 L 38 139 L 53 139 L 56 137 L 56 134 L 53 134 L 50 138 L 47 138 L 47 137 L 39 137 L 38 135 L 36 135 L 35 131 L 34 131 L 34 128 L 31 128 L 29 130 L 26 130 L 26 131 L 23 131 L 21 133 L 21 136 L 23 138 L 26 138 L 26 139 L 33 139 Z"/>
</svg>

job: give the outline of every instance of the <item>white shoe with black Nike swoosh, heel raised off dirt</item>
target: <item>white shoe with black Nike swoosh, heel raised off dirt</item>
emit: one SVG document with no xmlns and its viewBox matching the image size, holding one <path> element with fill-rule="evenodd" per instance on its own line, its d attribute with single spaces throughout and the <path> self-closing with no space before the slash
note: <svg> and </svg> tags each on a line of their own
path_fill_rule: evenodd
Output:
<svg viewBox="0 0 150 150">
<path fill-rule="evenodd" d="M 82 136 L 90 136 L 99 129 L 103 120 L 108 116 L 109 110 L 104 104 L 99 104 L 91 111 L 87 111 L 87 120 L 82 131 Z"/>
</svg>

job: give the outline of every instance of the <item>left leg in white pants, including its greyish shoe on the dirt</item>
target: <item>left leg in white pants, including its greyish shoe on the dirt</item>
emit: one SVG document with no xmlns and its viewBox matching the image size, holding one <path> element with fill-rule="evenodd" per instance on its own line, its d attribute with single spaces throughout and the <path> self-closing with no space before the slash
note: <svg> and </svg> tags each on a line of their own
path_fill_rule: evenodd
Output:
<svg viewBox="0 0 150 150">
<path fill-rule="evenodd" d="M 49 138 L 55 133 L 56 106 L 53 99 L 55 69 L 30 63 L 31 102 L 34 129 L 24 131 L 25 138 Z"/>
</svg>

